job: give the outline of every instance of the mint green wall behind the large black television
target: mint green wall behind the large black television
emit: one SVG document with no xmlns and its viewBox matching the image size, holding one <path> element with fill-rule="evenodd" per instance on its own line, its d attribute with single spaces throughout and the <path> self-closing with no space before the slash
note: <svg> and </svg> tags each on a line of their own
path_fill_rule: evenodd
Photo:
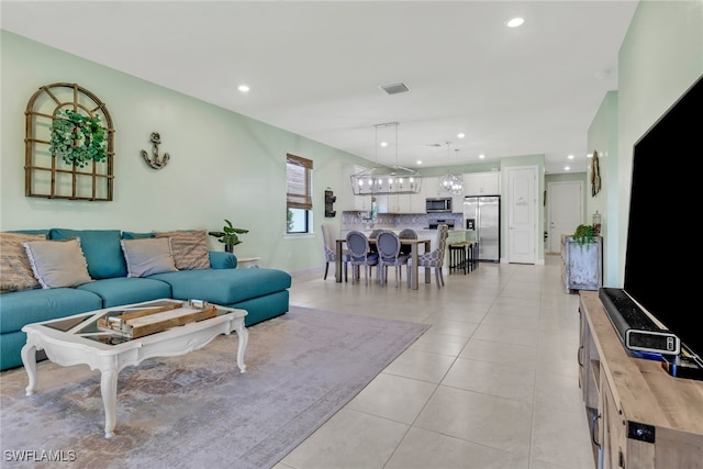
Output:
<svg viewBox="0 0 703 469">
<path fill-rule="evenodd" d="M 624 281 L 633 146 L 701 75 L 703 1 L 640 1 L 618 54 L 617 161 L 606 165 L 607 286 Z"/>
</svg>

